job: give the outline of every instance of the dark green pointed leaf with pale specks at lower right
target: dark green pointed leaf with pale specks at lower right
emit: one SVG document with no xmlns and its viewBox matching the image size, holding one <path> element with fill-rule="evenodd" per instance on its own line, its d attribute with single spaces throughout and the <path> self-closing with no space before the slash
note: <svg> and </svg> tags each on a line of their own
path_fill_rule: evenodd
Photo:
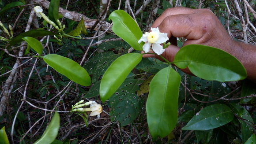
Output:
<svg viewBox="0 0 256 144">
<path fill-rule="evenodd" d="M 213 104 L 203 108 L 187 123 L 182 130 L 209 130 L 233 120 L 233 112 L 225 104 Z"/>
</svg>

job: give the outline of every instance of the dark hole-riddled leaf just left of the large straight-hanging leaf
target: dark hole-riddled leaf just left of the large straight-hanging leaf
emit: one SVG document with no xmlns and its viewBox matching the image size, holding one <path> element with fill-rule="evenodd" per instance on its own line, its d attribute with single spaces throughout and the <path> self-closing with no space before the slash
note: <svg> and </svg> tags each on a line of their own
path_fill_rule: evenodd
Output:
<svg viewBox="0 0 256 144">
<path fill-rule="evenodd" d="M 126 126 L 139 116 L 143 101 L 136 95 L 136 92 L 139 90 L 140 83 L 142 81 L 138 79 L 126 79 L 116 93 L 110 97 L 112 121 L 116 119 L 121 126 Z"/>
</svg>

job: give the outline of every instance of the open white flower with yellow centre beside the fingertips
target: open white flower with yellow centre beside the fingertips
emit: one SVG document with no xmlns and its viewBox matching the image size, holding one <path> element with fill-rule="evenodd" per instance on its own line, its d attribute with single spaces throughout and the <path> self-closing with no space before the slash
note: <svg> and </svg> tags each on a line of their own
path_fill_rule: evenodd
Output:
<svg viewBox="0 0 256 144">
<path fill-rule="evenodd" d="M 146 32 L 142 35 L 142 37 L 139 39 L 139 43 L 142 41 L 145 42 L 143 45 L 143 51 L 149 52 L 150 47 L 152 45 L 153 51 L 161 55 L 163 52 L 165 52 L 165 49 L 160 45 L 164 42 L 166 42 L 169 38 L 167 37 L 167 33 L 160 33 L 158 27 L 157 28 L 151 28 L 151 32 Z"/>
</svg>

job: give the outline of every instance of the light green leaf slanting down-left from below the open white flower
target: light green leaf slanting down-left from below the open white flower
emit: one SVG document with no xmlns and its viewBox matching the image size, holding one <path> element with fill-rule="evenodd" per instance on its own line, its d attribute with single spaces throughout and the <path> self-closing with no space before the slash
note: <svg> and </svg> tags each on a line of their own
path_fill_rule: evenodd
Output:
<svg viewBox="0 0 256 144">
<path fill-rule="evenodd" d="M 131 70 L 141 61 L 142 54 L 128 53 L 117 58 L 106 70 L 100 85 L 103 102 L 109 99 L 124 82 Z"/>
</svg>

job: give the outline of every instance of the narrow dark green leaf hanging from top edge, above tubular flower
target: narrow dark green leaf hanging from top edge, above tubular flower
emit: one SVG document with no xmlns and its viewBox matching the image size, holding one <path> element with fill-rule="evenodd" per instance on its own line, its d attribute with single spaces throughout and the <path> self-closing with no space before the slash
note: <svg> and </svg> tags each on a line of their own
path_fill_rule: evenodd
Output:
<svg viewBox="0 0 256 144">
<path fill-rule="evenodd" d="M 59 18 L 59 6 L 60 0 L 51 0 L 48 9 L 49 19 L 57 25 L 57 19 Z"/>
</svg>

